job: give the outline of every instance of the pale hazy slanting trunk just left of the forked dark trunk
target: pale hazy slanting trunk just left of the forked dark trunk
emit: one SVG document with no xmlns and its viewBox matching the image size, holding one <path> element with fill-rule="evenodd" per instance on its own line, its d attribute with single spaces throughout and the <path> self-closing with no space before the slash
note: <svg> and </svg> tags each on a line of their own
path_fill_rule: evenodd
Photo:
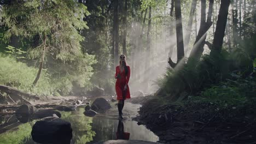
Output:
<svg viewBox="0 0 256 144">
<path fill-rule="evenodd" d="M 188 51 L 191 29 L 192 29 L 192 25 L 193 25 L 193 18 L 195 15 L 195 8 L 196 8 L 196 0 L 193 0 L 191 3 L 190 13 L 189 13 L 187 34 L 186 34 L 185 41 L 184 41 L 185 53 L 187 53 L 187 51 Z"/>
</svg>

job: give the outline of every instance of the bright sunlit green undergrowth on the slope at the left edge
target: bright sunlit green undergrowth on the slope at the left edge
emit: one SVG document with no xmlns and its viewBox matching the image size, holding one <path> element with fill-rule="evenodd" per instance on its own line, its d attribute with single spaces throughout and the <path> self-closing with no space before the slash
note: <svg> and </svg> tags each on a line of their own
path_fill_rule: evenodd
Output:
<svg viewBox="0 0 256 144">
<path fill-rule="evenodd" d="M 37 68 L 28 67 L 25 63 L 17 62 L 15 58 L 0 53 L 0 84 L 17 87 L 25 92 L 39 95 L 51 95 L 54 91 L 50 85 L 50 77 L 46 70 L 42 70 L 42 77 L 38 86 L 31 88 Z"/>
</svg>

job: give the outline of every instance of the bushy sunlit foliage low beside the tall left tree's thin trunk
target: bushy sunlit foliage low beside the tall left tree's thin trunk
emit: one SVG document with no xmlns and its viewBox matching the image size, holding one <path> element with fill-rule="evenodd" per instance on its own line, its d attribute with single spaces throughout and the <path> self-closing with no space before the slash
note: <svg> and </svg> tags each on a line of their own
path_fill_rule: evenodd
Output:
<svg viewBox="0 0 256 144">
<path fill-rule="evenodd" d="M 92 65 L 96 62 L 95 56 L 85 53 L 74 57 L 74 61 L 51 63 L 48 70 L 53 77 L 54 88 L 59 89 L 62 95 L 68 95 L 74 87 L 90 89 L 90 79 L 94 74 Z"/>
</svg>

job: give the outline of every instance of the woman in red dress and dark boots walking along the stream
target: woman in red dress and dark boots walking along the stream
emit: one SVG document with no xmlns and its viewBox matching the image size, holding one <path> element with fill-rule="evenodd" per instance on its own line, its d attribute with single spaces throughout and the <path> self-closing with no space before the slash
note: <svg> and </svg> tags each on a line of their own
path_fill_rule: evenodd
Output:
<svg viewBox="0 0 256 144">
<path fill-rule="evenodd" d="M 126 65 L 125 55 L 120 56 L 119 64 L 115 68 L 115 79 L 117 79 L 115 82 L 115 92 L 117 92 L 119 119 L 123 119 L 124 100 L 131 98 L 128 86 L 131 72 L 130 67 Z"/>
</svg>

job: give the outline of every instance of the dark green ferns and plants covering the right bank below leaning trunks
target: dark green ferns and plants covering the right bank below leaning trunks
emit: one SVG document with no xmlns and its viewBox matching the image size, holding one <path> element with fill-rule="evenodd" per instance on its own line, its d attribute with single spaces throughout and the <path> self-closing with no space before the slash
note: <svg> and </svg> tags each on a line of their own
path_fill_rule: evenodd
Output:
<svg viewBox="0 0 256 144">
<path fill-rule="evenodd" d="M 247 77 L 252 73 L 253 61 L 247 57 L 245 51 L 234 51 L 228 53 L 223 50 L 215 55 L 204 55 L 201 61 L 196 62 L 189 59 L 187 64 L 177 66 L 175 69 L 168 69 L 164 79 L 160 80 L 160 86 L 164 88 L 167 95 L 172 96 L 172 100 L 177 100 L 182 92 L 190 95 L 198 95 L 205 88 L 212 87 L 203 92 L 202 97 L 219 100 L 230 100 L 235 103 L 236 100 L 245 100 L 245 97 L 251 95 L 251 90 L 255 87 L 248 87 L 248 93 L 241 93 L 245 89 L 240 89 L 246 85 L 246 82 L 239 81 L 241 85 L 237 86 L 216 86 L 219 82 L 226 79 L 232 79 L 234 74 L 231 71 L 238 70 L 238 77 Z M 237 74 L 236 74 L 237 75 Z M 245 87 L 243 87 L 245 88 Z"/>
</svg>

